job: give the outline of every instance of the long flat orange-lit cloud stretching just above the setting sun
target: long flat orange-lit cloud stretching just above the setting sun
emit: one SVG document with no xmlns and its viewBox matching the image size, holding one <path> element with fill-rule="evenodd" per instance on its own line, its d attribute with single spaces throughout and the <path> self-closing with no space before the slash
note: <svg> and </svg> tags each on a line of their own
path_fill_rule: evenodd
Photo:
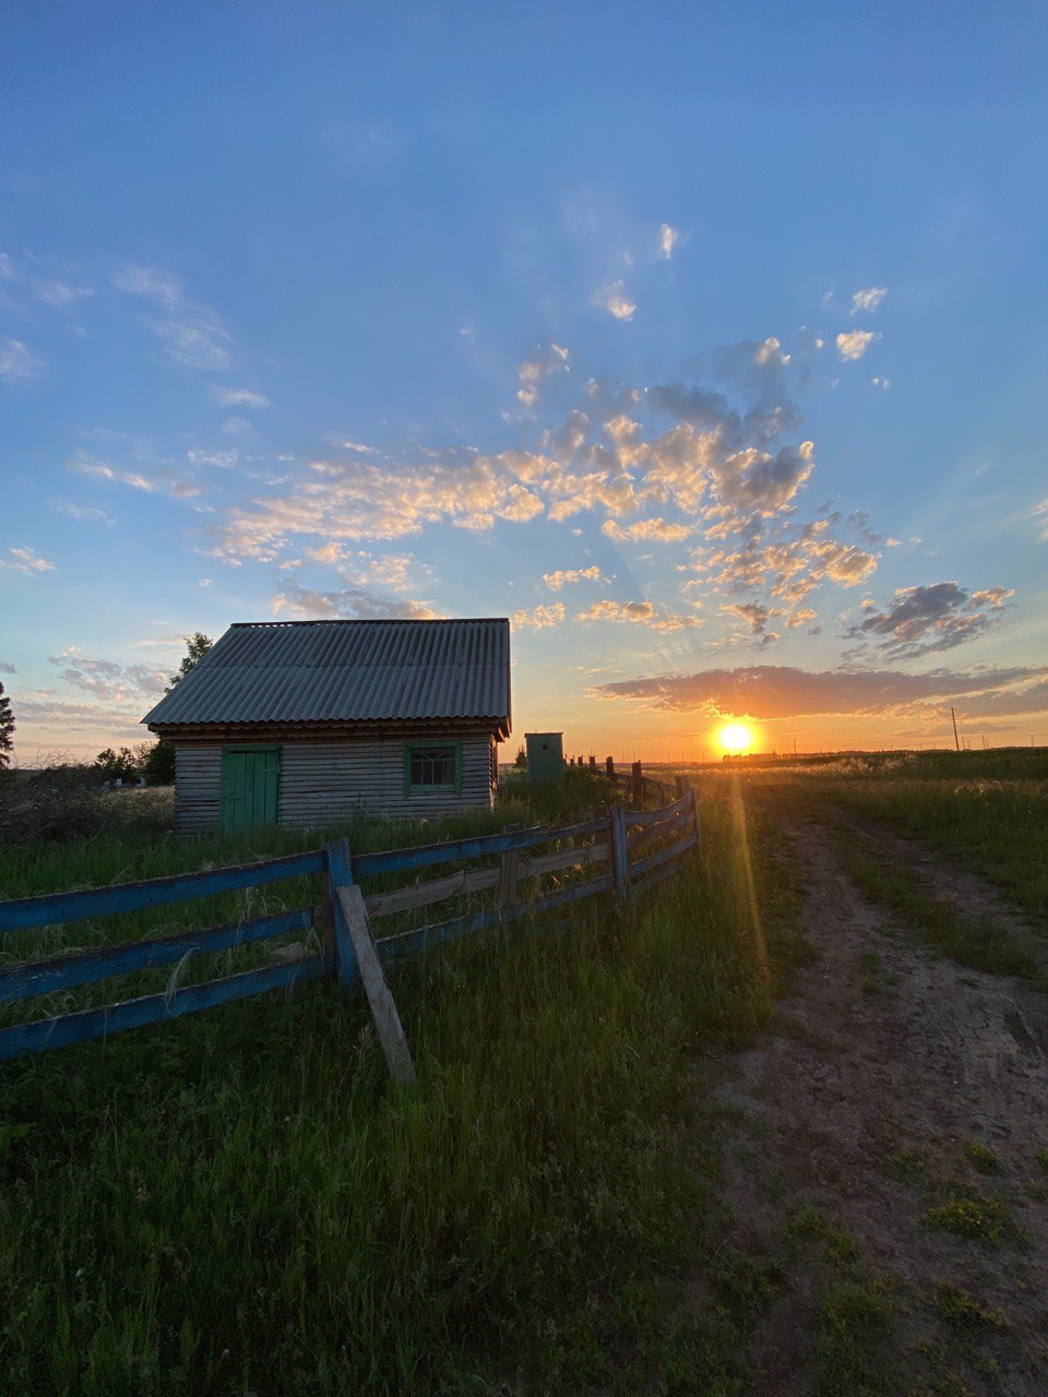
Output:
<svg viewBox="0 0 1048 1397">
<path fill-rule="evenodd" d="M 693 675 L 657 675 L 604 683 L 602 698 L 641 700 L 667 712 L 757 719 L 861 714 L 919 714 L 952 701 L 1014 697 L 1023 687 L 1040 700 L 1045 669 L 936 669 L 908 675 L 898 669 L 808 671 L 788 665 L 746 665 Z M 1030 689 L 1041 680 L 1035 689 Z M 1021 701 L 1028 701 L 1023 698 Z M 1026 710 L 1023 710 L 1026 711 Z"/>
</svg>

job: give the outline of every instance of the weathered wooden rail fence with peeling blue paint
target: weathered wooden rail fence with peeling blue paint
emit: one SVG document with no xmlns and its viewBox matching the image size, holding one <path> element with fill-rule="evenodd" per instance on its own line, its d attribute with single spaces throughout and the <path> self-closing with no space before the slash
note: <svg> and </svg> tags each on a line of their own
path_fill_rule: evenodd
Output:
<svg viewBox="0 0 1048 1397">
<path fill-rule="evenodd" d="M 365 894 L 362 901 L 369 921 L 497 888 L 497 905 L 377 939 L 379 961 L 386 963 L 467 932 L 541 915 L 599 893 L 613 891 L 623 900 L 644 893 L 681 869 L 683 856 L 697 845 L 699 833 L 696 795 L 678 778 L 676 799 L 664 809 L 625 810 L 613 805 L 598 819 L 560 830 L 511 830 L 380 854 L 352 854 L 348 841 L 338 840 L 323 849 L 260 863 L 0 902 L 3 937 L 10 932 L 169 907 L 285 879 L 326 876 L 326 894 L 320 902 L 296 911 L 1 965 L 0 1006 L 161 965 L 175 965 L 177 974 L 187 957 L 288 936 L 309 937 L 316 947 L 310 950 L 296 940 L 291 946 L 271 947 L 277 964 L 169 988 L 163 993 L 101 1009 L 82 1009 L 0 1028 L 0 1060 L 87 1042 L 267 990 L 288 990 L 302 981 L 321 977 L 337 979 L 345 989 L 359 978 L 358 957 L 344 915 L 344 893 L 356 883 L 366 887 L 369 880 L 383 875 L 409 875 L 442 863 L 471 863 L 437 879 Z M 544 845 L 552 848 L 532 852 Z M 474 862 L 492 858 L 497 862 Z M 597 876 L 588 876 L 592 872 Z M 551 876 L 558 879 L 559 886 L 544 886 Z M 528 882 L 532 886 L 525 893 L 521 884 Z"/>
</svg>

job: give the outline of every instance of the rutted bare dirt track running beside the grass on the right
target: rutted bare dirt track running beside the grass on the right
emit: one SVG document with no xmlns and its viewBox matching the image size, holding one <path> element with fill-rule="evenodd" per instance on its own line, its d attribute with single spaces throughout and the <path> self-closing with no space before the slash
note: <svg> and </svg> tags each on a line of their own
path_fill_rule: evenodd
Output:
<svg viewBox="0 0 1048 1397">
<path fill-rule="evenodd" d="M 822 1210 L 859 1239 L 873 1271 L 898 1278 L 900 1393 L 929 1379 L 914 1345 L 931 1340 L 973 1393 L 1040 1397 L 1048 1390 L 1048 1173 L 1037 1160 L 1048 1147 L 1048 996 L 918 944 L 862 898 L 831 833 L 789 806 L 767 807 L 806 888 L 802 929 L 820 960 L 799 972 L 784 1004 L 799 1031 L 738 1055 L 715 1088 L 748 1118 L 725 1141 L 729 1241 L 771 1255 L 788 1207 Z M 878 957 L 880 993 L 864 993 L 864 953 Z M 967 1141 L 991 1148 L 999 1172 L 977 1173 Z M 924 1160 L 918 1179 L 886 1171 L 905 1148 Z M 921 1214 L 950 1180 L 999 1194 L 1028 1241 L 1013 1232 L 991 1249 L 922 1229 Z M 992 1382 L 964 1366 L 961 1340 L 936 1316 L 940 1281 L 1007 1316 L 1007 1333 L 980 1341 L 999 1365 Z M 806 1390 L 816 1288 L 810 1274 L 792 1275 L 767 1310 L 749 1354 L 755 1393 Z"/>
</svg>

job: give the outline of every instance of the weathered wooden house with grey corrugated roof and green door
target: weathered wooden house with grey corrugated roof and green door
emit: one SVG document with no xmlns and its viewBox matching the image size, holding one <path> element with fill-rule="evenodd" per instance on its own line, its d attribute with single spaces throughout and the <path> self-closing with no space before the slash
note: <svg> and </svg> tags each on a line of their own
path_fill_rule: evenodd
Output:
<svg viewBox="0 0 1048 1397">
<path fill-rule="evenodd" d="M 179 831 L 490 806 L 510 624 L 235 624 L 143 722 L 175 743 Z"/>
</svg>

